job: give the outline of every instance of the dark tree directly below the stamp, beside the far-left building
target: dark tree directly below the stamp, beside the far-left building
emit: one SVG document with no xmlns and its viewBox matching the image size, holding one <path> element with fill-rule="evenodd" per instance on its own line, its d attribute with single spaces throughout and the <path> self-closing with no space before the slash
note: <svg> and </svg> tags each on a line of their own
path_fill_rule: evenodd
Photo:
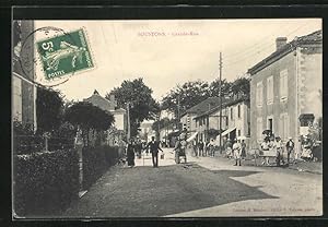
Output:
<svg viewBox="0 0 328 227">
<path fill-rule="evenodd" d="M 63 100 L 59 92 L 37 87 L 36 119 L 37 131 L 51 132 L 60 126 Z"/>
</svg>

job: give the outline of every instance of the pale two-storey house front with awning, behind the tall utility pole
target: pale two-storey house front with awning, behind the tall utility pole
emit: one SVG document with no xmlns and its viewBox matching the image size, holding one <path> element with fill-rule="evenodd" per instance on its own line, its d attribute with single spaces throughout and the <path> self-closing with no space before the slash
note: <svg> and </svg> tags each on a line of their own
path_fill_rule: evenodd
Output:
<svg viewBox="0 0 328 227">
<path fill-rule="evenodd" d="M 249 138 L 249 98 L 245 96 L 235 97 L 222 104 L 222 144 L 226 139 Z M 218 130 L 220 132 L 220 109 L 221 106 L 216 106 L 195 118 L 198 141 L 210 140 L 209 130 Z M 219 145 L 219 136 L 216 139 L 216 144 Z"/>
</svg>

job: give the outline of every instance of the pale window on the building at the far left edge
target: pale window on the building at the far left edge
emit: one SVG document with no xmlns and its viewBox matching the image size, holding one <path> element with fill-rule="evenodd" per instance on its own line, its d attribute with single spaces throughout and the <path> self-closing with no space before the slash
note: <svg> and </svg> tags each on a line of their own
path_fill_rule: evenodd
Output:
<svg viewBox="0 0 328 227">
<path fill-rule="evenodd" d="M 22 121 L 22 81 L 13 76 L 13 112 L 12 116 L 19 121 Z"/>
</svg>

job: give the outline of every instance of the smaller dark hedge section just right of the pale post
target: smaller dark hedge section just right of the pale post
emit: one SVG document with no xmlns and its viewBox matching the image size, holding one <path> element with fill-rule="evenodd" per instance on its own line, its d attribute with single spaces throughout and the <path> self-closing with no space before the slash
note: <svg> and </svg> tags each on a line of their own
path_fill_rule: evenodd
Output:
<svg viewBox="0 0 328 227">
<path fill-rule="evenodd" d="M 121 156 L 118 146 L 84 147 L 83 189 L 89 189 Z"/>
</svg>

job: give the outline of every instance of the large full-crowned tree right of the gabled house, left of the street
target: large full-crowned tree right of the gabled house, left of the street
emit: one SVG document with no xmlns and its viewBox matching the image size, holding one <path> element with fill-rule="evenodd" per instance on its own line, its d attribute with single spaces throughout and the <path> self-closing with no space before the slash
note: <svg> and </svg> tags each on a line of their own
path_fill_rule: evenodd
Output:
<svg viewBox="0 0 328 227">
<path fill-rule="evenodd" d="M 110 99 L 110 95 L 115 95 L 117 105 L 120 108 L 126 109 L 127 104 L 130 105 L 132 136 L 137 135 L 140 122 L 155 119 L 159 112 L 160 106 L 152 97 L 152 93 L 153 91 L 139 77 L 133 81 L 124 81 L 119 87 L 115 87 L 106 95 L 107 99 Z"/>
</svg>

